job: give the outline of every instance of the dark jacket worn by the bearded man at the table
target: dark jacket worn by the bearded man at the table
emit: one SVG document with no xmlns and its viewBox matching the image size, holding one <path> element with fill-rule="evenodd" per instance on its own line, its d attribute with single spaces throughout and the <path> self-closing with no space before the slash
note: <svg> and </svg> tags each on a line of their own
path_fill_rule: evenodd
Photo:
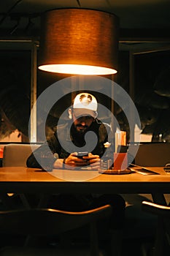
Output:
<svg viewBox="0 0 170 256">
<path fill-rule="evenodd" d="M 37 148 L 36 151 L 34 151 L 34 154 L 31 154 L 31 156 L 28 157 L 27 166 L 36 168 L 41 167 L 39 165 L 39 161 L 37 162 L 36 159 L 39 159 L 41 157 L 42 152 L 49 151 L 49 148 L 54 154 L 53 162 L 55 162 L 56 155 L 58 158 L 65 158 L 69 157 L 70 153 L 77 151 L 77 148 L 74 148 L 74 146 L 80 147 L 81 151 L 81 147 L 85 146 L 85 136 L 77 136 L 74 127 L 72 126 L 71 129 L 70 127 L 71 124 L 69 124 L 69 122 L 58 125 L 53 136 L 49 140 L 47 140 L 46 143 Z M 104 154 L 104 143 L 106 143 L 108 140 L 113 140 L 109 124 L 103 124 L 98 119 L 95 119 L 95 121 L 91 124 L 88 131 L 95 132 L 97 136 L 97 143 L 95 148 L 93 147 L 93 138 L 95 136 L 92 134 L 93 138 L 90 141 L 88 140 L 88 143 L 91 143 L 91 145 L 89 146 L 93 148 L 91 153 L 98 154 L 99 157 L 102 157 L 102 155 Z M 61 143 L 59 140 L 61 141 Z M 112 141 L 109 142 L 112 143 Z M 49 146 L 49 148 L 47 146 Z"/>
</svg>

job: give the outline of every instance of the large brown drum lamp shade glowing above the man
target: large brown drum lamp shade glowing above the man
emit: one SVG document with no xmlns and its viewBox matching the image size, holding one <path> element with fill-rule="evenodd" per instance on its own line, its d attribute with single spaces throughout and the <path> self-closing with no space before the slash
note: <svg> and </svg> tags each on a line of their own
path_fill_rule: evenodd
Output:
<svg viewBox="0 0 170 256">
<path fill-rule="evenodd" d="M 39 69 L 74 75 L 117 72 L 117 16 L 97 10 L 58 9 L 42 15 Z"/>
</svg>

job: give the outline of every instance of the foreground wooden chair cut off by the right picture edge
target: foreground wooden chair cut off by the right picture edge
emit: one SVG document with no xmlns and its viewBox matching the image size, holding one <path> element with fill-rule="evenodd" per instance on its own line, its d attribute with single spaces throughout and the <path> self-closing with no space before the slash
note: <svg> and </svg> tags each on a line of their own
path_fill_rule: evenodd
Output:
<svg viewBox="0 0 170 256">
<path fill-rule="evenodd" d="M 152 256 L 170 255 L 170 206 L 143 201 L 142 210 L 158 217 Z M 147 255 L 147 252 L 145 252 L 145 255 Z"/>
</svg>

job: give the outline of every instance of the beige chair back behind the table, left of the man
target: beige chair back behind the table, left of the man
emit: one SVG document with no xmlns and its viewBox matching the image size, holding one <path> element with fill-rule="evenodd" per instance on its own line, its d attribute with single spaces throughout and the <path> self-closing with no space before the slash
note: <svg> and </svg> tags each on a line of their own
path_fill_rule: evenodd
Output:
<svg viewBox="0 0 170 256">
<path fill-rule="evenodd" d="M 23 166 L 26 167 L 26 160 L 39 144 L 15 144 L 10 143 L 4 146 L 2 166 Z"/>
</svg>

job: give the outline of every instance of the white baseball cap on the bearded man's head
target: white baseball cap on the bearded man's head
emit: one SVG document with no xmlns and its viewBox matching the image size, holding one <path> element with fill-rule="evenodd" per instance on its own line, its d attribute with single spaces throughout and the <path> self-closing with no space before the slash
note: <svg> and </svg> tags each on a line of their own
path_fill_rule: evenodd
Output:
<svg viewBox="0 0 170 256">
<path fill-rule="evenodd" d="M 92 94 L 87 92 L 82 92 L 77 94 L 73 102 L 73 112 L 74 116 L 92 116 L 97 117 L 97 107 L 98 103 L 96 98 Z"/>
</svg>

